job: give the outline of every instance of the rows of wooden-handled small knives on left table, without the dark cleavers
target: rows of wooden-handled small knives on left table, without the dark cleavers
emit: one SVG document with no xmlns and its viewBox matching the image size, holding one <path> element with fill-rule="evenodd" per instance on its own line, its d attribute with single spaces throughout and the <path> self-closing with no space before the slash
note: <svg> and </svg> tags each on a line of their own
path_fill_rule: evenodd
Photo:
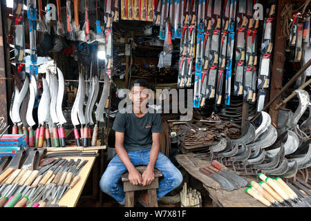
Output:
<svg viewBox="0 0 311 221">
<path fill-rule="evenodd" d="M 80 162 L 58 158 L 39 170 L 6 169 L 0 175 L 0 207 L 55 206 L 79 181 L 79 171 L 88 161 Z"/>
</svg>

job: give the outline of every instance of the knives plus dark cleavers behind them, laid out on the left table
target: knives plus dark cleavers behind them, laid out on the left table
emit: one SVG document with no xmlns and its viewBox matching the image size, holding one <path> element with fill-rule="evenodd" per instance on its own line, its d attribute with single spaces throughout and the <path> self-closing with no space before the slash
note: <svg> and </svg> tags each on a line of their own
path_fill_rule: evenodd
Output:
<svg viewBox="0 0 311 221">
<path fill-rule="evenodd" d="M 10 162 L 1 158 L 0 207 L 59 206 L 59 200 L 79 181 L 88 160 L 43 160 L 45 156 L 46 148 L 28 148 L 18 151 Z"/>
</svg>

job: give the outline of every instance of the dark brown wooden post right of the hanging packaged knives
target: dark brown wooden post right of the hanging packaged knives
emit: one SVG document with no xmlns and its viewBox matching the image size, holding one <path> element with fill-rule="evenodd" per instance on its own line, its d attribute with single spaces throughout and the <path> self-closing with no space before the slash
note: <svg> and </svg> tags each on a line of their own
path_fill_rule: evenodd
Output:
<svg viewBox="0 0 311 221">
<path fill-rule="evenodd" d="M 271 87 L 270 99 L 272 99 L 282 88 L 283 70 L 285 62 L 285 46 L 286 38 L 281 37 L 281 29 L 283 21 L 281 19 L 281 12 L 285 5 L 290 3 L 289 0 L 278 1 L 278 8 L 276 10 L 276 35 L 274 38 L 274 52 L 273 52 L 273 65 L 271 73 Z M 274 110 L 275 106 L 281 102 L 281 97 L 278 97 L 270 106 L 269 114 L 271 116 L 271 124 L 277 127 L 279 110 Z"/>
</svg>

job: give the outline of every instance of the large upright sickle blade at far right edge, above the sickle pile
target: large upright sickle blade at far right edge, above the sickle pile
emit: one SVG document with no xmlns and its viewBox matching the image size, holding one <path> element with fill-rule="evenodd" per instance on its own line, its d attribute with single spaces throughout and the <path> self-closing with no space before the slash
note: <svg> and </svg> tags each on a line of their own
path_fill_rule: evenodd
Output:
<svg viewBox="0 0 311 221">
<path fill-rule="evenodd" d="M 297 93 L 297 96 L 299 98 L 299 106 L 296 109 L 293 117 L 291 126 L 292 128 L 296 128 L 296 125 L 300 119 L 300 117 L 305 113 L 305 110 L 308 108 L 308 104 L 310 102 L 310 96 L 307 91 L 305 90 L 295 90 L 294 92 Z"/>
</svg>

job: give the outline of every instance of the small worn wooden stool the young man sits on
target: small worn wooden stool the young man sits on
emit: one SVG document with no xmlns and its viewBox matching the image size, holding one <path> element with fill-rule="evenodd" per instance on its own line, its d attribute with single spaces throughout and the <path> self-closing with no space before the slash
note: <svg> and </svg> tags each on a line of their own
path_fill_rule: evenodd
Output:
<svg viewBox="0 0 311 221">
<path fill-rule="evenodd" d="M 147 166 L 135 166 L 135 168 L 142 174 Z M 140 186 L 140 185 L 133 185 L 129 182 L 129 172 L 122 174 L 122 182 L 123 182 L 123 189 L 125 192 L 125 207 L 133 207 L 134 206 L 134 193 L 135 191 L 148 191 L 148 202 L 150 207 L 158 207 L 158 200 L 157 200 L 157 191 L 156 189 L 159 187 L 159 177 L 162 176 L 162 173 L 154 169 L 154 180 L 148 186 Z"/>
</svg>

